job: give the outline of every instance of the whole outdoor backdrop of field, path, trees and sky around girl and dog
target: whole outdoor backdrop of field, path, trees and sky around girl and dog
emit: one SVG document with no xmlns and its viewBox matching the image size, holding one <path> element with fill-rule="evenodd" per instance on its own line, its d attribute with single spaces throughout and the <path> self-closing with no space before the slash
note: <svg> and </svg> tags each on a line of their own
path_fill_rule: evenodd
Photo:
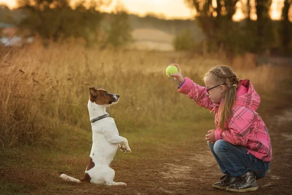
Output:
<svg viewBox="0 0 292 195">
<path fill-rule="evenodd" d="M 219 194 L 202 191 L 221 176 L 214 116 L 177 93 L 170 63 L 202 86 L 220 64 L 251 80 L 275 156 L 258 194 L 289 189 L 292 0 L 0 0 L 0 42 L 0 194 L 121 194 L 57 179 L 83 176 L 92 86 L 121 96 L 107 112 L 132 149 L 111 164 L 123 193 Z"/>
</svg>

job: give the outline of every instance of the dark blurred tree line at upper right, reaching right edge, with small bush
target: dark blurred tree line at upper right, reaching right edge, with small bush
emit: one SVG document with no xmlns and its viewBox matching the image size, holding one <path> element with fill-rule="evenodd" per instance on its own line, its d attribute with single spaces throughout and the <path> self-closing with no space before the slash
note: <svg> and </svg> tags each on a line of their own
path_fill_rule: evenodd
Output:
<svg viewBox="0 0 292 195">
<path fill-rule="evenodd" d="M 216 0 L 216 4 L 212 0 L 184 1 L 196 11 L 195 22 L 206 37 L 209 51 L 223 48 L 229 54 L 291 55 L 292 0 L 284 0 L 279 21 L 272 20 L 269 14 L 272 0 Z M 237 9 L 243 11 L 243 20 L 233 20 Z M 252 9 L 256 10 L 255 16 Z M 174 40 L 177 49 L 192 49 L 190 42 L 194 39 L 187 30 Z"/>
</svg>

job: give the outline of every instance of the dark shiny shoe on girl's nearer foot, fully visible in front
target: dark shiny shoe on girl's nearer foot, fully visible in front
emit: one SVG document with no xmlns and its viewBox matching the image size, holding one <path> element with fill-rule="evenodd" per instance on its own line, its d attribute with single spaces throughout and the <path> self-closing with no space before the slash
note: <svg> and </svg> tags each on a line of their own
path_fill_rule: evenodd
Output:
<svg viewBox="0 0 292 195">
<path fill-rule="evenodd" d="M 246 172 L 244 175 L 239 176 L 237 180 L 226 188 L 229 192 L 249 192 L 257 190 L 256 176 L 252 172 Z"/>
</svg>

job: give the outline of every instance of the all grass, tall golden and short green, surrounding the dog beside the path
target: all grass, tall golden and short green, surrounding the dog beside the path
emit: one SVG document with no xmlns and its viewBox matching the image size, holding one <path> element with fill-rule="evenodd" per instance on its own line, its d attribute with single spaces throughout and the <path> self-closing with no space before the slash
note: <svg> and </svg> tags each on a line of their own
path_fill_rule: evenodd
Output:
<svg viewBox="0 0 292 195">
<path fill-rule="evenodd" d="M 0 194 L 76 190 L 79 184 L 60 182 L 58 176 L 84 174 L 91 150 L 87 110 L 91 86 L 121 96 L 108 112 L 129 140 L 132 153 L 115 156 L 117 180 L 128 174 L 126 170 L 135 175 L 131 164 L 147 167 L 157 158 L 166 161 L 187 153 L 183 150 L 194 141 L 203 144 L 203 135 L 215 127 L 214 117 L 177 93 L 176 82 L 165 75 L 167 65 L 175 62 L 184 76 L 203 85 L 204 74 L 224 60 L 177 52 L 85 50 L 68 44 L 49 49 L 36 44 L 2 55 Z M 279 87 L 291 83 L 291 70 L 286 67 L 236 71 L 239 78 L 249 78 L 264 99 L 261 112 L 270 106 L 267 102 L 281 96 L 275 96 Z M 87 192 L 88 184 L 80 185 L 74 193 Z"/>
</svg>

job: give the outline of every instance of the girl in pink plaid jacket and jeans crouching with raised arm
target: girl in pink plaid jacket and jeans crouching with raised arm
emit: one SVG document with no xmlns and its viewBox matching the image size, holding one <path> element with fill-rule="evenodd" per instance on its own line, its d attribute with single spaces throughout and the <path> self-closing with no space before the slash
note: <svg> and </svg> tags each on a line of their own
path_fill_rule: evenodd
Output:
<svg viewBox="0 0 292 195">
<path fill-rule="evenodd" d="M 214 112 L 216 130 L 206 140 L 224 176 L 213 188 L 234 192 L 256 191 L 256 179 L 264 177 L 272 159 L 266 125 L 256 113 L 260 98 L 249 80 L 239 80 L 228 66 L 211 68 L 204 77 L 206 87 L 183 78 L 181 68 L 171 76 L 199 106 Z"/>
</svg>

